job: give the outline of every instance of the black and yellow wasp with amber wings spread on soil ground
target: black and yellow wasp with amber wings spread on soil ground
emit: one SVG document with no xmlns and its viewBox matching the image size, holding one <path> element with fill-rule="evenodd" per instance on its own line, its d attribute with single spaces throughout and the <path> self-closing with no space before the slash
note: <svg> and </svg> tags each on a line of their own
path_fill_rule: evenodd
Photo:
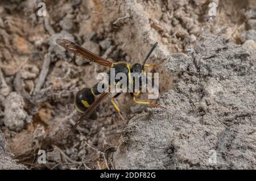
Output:
<svg viewBox="0 0 256 181">
<path fill-rule="evenodd" d="M 150 57 L 150 54 L 153 52 L 153 50 L 156 48 L 158 43 L 156 42 L 154 46 L 150 49 L 148 52 L 146 58 L 142 62 L 142 64 L 136 63 L 133 65 L 128 64 L 127 62 L 112 62 L 109 60 L 106 60 L 105 58 L 102 58 L 100 56 L 97 56 L 96 54 L 90 52 L 89 50 L 81 47 L 79 44 L 73 43 L 72 41 L 65 40 L 65 39 L 56 39 L 56 43 L 64 47 L 65 49 L 69 50 L 70 52 L 76 54 L 77 56 L 86 58 L 92 62 L 95 62 L 96 64 L 100 64 L 102 66 L 106 66 L 108 68 L 113 68 L 115 70 L 115 74 L 118 73 L 125 73 L 127 75 L 127 81 L 128 83 L 131 83 L 131 73 L 138 73 L 138 74 L 145 74 L 146 71 L 144 70 L 145 67 L 153 67 L 153 66 L 158 66 L 162 64 L 162 62 L 165 60 L 162 60 L 158 64 L 146 64 L 146 61 L 148 57 Z M 109 80 L 110 81 L 110 80 Z M 115 85 L 118 83 L 118 79 L 114 80 Z M 141 81 L 141 79 L 140 79 Z M 149 79 L 147 79 L 147 82 L 150 82 Z M 152 83 L 152 82 L 151 82 Z M 110 85 L 110 82 L 109 82 Z M 134 86 L 134 85 L 133 85 Z M 140 85 L 141 86 L 141 85 Z M 156 87 L 156 85 L 155 85 Z M 141 87 L 140 87 L 141 88 Z M 159 89 L 159 88 L 158 88 Z M 98 90 L 98 83 L 96 83 L 94 86 L 91 88 L 85 87 L 81 90 L 79 90 L 76 95 L 75 95 L 75 107 L 77 111 L 82 113 L 82 116 L 76 121 L 76 124 L 72 128 L 71 131 L 74 131 L 83 121 L 84 119 L 96 119 L 95 111 L 98 106 L 100 106 L 101 102 L 106 99 L 109 94 L 112 91 L 109 90 L 108 92 L 101 92 Z M 114 96 L 111 98 L 111 102 L 115 108 L 115 110 L 118 112 L 119 116 L 121 117 L 122 120 L 123 116 L 121 114 L 120 109 L 117 106 L 117 103 L 115 102 L 115 99 L 121 94 L 122 92 L 117 92 Z M 160 106 L 155 103 L 150 103 L 150 102 L 144 102 L 144 101 L 138 101 L 136 99 L 136 96 L 139 95 L 141 91 L 139 92 L 130 92 L 131 97 L 133 98 L 133 101 L 137 104 L 147 104 L 149 106 Z M 99 95 L 99 96 L 98 96 Z M 97 98 L 98 96 L 98 98 Z"/>
</svg>

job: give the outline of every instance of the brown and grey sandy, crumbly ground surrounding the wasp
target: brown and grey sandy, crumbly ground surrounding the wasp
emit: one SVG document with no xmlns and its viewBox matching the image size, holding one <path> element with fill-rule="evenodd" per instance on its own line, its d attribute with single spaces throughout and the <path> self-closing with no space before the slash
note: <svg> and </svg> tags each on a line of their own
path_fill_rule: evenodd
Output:
<svg viewBox="0 0 256 181">
<path fill-rule="evenodd" d="M 47 16 L 39 1 L 0 2 L 0 169 L 255 169 L 255 1 L 214 1 L 210 22 L 206 0 L 44 2 Z M 123 94 L 127 123 L 106 100 L 68 134 L 75 93 L 106 68 L 57 38 L 130 64 L 158 41 L 148 62 L 167 60 L 147 71 L 160 73 L 165 108 Z"/>
</svg>

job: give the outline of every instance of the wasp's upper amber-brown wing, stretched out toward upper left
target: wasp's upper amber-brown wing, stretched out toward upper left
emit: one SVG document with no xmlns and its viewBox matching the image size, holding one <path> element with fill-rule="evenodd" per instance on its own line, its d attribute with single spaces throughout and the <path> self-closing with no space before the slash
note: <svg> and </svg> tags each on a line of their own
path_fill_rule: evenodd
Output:
<svg viewBox="0 0 256 181">
<path fill-rule="evenodd" d="M 56 43 L 64 47 L 65 49 L 75 53 L 77 56 L 87 58 L 90 61 L 96 62 L 97 64 L 103 66 L 111 66 L 113 64 L 112 61 L 106 60 L 96 54 L 90 52 L 89 50 L 82 48 L 79 44 L 73 43 L 72 41 L 65 40 L 65 39 L 57 39 Z"/>
</svg>

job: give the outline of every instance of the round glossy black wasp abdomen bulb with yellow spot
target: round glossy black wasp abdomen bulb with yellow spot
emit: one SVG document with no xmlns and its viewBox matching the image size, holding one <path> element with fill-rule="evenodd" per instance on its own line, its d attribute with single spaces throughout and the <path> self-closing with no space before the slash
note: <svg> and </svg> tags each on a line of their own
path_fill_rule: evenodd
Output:
<svg viewBox="0 0 256 181">
<path fill-rule="evenodd" d="M 95 98 L 90 88 L 83 88 L 76 93 L 75 106 L 77 111 L 85 112 L 92 105 Z"/>
</svg>

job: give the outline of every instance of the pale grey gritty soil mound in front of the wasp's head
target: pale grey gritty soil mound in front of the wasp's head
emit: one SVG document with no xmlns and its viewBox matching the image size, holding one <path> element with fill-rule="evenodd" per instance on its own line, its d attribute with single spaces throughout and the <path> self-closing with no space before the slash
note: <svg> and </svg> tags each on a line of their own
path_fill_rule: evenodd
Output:
<svg viewBox="0 0 256 181">
<path fill-rule="evenodd" d="M 206 31 L 190 54 L 169 57 L 166 67 L 179 80 L 158 100 L 165 108 L 129 121 L 117 169 L 256 168 L 256 51 L 222 33 Z"/>
</svg>

